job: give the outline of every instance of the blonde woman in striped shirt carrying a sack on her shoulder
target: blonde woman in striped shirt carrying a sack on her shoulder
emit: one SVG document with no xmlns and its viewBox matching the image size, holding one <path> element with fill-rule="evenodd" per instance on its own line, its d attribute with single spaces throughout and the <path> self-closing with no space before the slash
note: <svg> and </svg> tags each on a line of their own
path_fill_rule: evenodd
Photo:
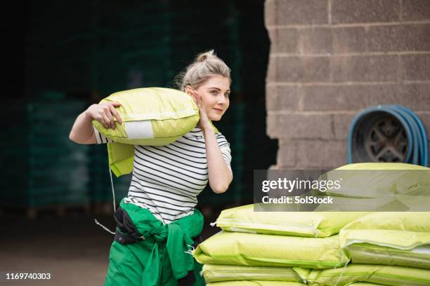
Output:
<svg viewBox="0 0 430 286">
<path fill-rule="evenodd" d="M 135 145 L 129 193 L 114 216 L 117 232 L 105 285 L 204 285 L 191 253 L 191 238 L 200 235 L 203 223 L 194 207 L 208 181 L 215 193 L 223 193 L 233 179 L 230 144 L 211 125 L 228 109 L 230 83 L 230 69 L 213 50 L 197 55 L 178 76 L 180 89 L 199 107 L 197 126 L 167 146 Z M 115 128 L 114 116 L 122 123 L 115 109 L 119 106 L 91 105 L 77 117 L 70 139 L 112 142 L 91 121 Z"/>
</svg>

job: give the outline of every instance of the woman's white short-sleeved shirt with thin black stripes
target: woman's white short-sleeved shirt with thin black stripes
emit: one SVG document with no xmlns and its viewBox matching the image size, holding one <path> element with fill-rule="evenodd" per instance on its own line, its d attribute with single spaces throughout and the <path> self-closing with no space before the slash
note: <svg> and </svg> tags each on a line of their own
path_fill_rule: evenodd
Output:
<svg viewBox="0 0 430 286">
<path fill-rule="evenodd" d="M 112 142 L 94 132 L 97 144 Z M 231 170 L 230 144 L 216 135 L 221 154 Z M 197 195 L 208 182 L 203 132 L 194 128 L 166 146 L 134 145 L 133 174 L 124 203 L 144 207 L 157 219 L 170 222 L 193 214 Z"/>
</svg>

